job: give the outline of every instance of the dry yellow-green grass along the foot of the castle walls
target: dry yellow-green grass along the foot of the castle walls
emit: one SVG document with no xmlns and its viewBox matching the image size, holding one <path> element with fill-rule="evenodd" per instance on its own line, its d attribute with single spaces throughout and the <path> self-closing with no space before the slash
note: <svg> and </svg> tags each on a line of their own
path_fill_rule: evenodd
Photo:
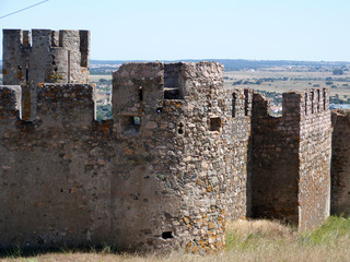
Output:
<svg viewBox="0 0 350 262">
<path fill-rule="evenodd" d="M 9 257 L 1 261 L 70 262 L 70 261 L 126 261 L 126 262 L 221 262 L 221 261 L 349 261 L 350 219 L 330 217 L 325 225 L 311 233 L 269 221 L 230 223 L 226 252 L 200 255 L 173 252 L 158 254 L 115 254 L 108 248 L 101 252 L 61 252 L 31 258 Z"/>
</svg>

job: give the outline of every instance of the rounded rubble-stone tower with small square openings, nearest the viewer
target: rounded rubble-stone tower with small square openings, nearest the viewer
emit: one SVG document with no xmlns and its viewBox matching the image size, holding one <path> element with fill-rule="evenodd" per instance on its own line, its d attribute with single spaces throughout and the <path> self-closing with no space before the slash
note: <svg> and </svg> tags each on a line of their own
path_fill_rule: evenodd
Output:
<svg viewBox="0 0 350 262">
<path fill-rule="evenodd" d="M 224 249 L 230 97 L 214 62 L 127 63 L 113 74 L 117 246 Z"/>
</svg>

